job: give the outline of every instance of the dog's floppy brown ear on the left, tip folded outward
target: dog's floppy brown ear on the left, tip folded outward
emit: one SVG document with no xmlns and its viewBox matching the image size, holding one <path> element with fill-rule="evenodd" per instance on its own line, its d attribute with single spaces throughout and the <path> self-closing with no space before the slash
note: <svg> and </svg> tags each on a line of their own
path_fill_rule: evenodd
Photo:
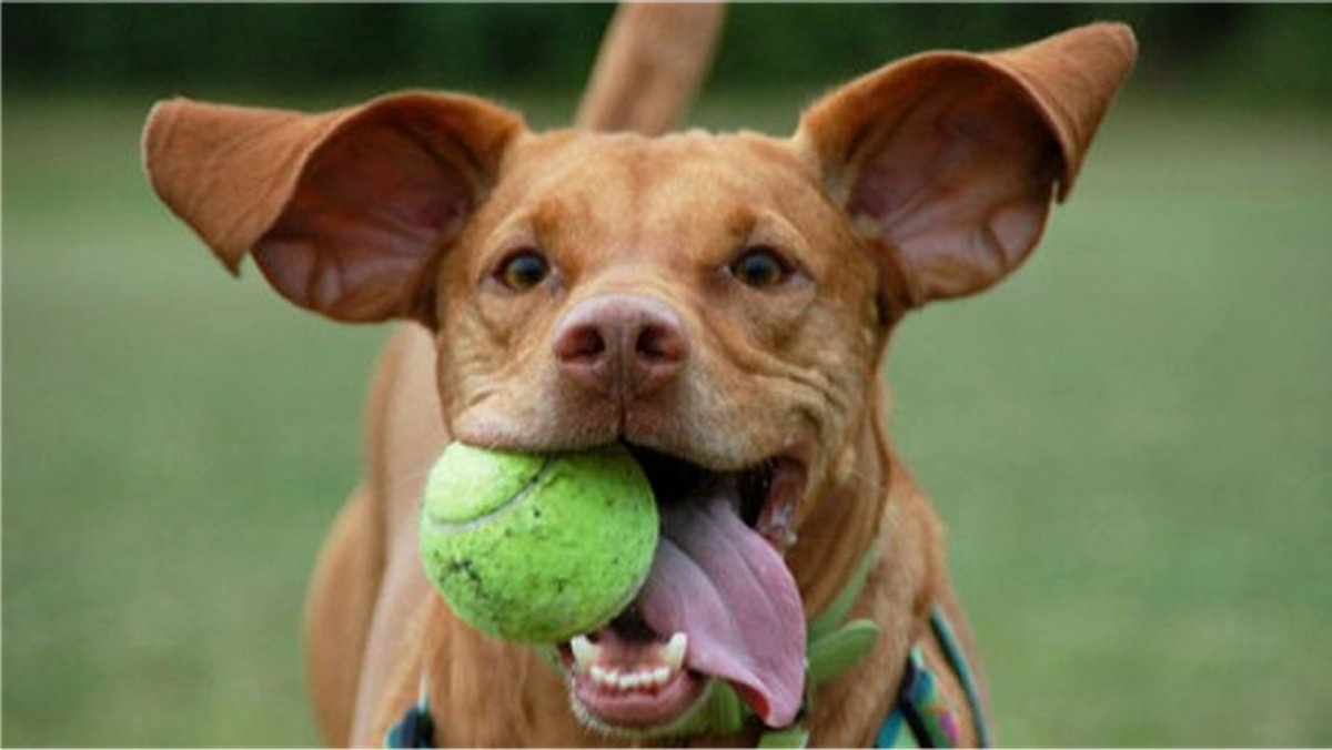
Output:
<svg viewBox="0 0 1332 750">
<path fill-rule="evenodd" d="M 402 93 L 321 115 L 159 103 L 153 189 L 233 273 L 253 253 L 282 296 L 334 320 L 434 317 L 438 256 L 496 180 L 522 120 Z"/>
</svg>

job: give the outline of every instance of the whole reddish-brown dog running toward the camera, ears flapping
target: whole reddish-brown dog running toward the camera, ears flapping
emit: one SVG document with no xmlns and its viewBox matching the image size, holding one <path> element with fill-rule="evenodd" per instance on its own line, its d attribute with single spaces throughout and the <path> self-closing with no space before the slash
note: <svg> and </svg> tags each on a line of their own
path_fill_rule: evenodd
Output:
<svg viewBox="0 0 1332 750">
<path fill-rule="evenodd" d="M 611 39 L 603 61 L 634 56 Z M 790 139 L 591 132 L 654 132 L 682 107 L 643 84 L 665 104 L 626 108 L 622 75 L 594 87 L 586 129 L 541 135 L 464 96 L 325 115 L 160 104 L 153 185 L 228 268 L 253 254 L 281 294 L 330 318 L 414 321 L 381 360 L 366 477 L 313 583 L 325 738 L 378 743 L 424 685 L 441 745 L 742 745 L 797 719 L 815 745 L 866 745 L 919 646 L 974 743 L 928 626 L 935 609 L 962 615 L 935 516 L 888 441 L 878 364 L 908 310 L 1027 257 L 1134 56 L 1128 29 L 1107 24 L 922 55 L 834 91 Z M 456 619 L 416 549 L 425 470 L 450 440 L 633 448 L 666 541 L 593 658 L 657 666 L 686 633 L 665 685 L 594 679 L 565 645 L 561 670 Z M 815 690 L 806 619 L 866 558 L 851 613 L 880 635 Z M 673 586 L 687 595 L 661 593 Z M 750 718 L 673 737 L 714 681 Z"/>
</svg>

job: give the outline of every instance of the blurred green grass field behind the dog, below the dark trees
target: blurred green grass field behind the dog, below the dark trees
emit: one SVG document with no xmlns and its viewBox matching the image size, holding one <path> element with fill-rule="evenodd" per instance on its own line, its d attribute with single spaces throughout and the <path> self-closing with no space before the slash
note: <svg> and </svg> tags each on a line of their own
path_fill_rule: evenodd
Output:
<svg viewBox="0 0 1332 750">
<path fill-rule="evenodd" d="M 3 741 L 312 743 L 385 329 L 228 278 L 144 184 L 147 105 L 5 100 Z M 1329 167 L 1323 120 L 1128 101 L 1022 273 L 898 332 L 1003 742 L 1332 743 Z"/>
</svg>

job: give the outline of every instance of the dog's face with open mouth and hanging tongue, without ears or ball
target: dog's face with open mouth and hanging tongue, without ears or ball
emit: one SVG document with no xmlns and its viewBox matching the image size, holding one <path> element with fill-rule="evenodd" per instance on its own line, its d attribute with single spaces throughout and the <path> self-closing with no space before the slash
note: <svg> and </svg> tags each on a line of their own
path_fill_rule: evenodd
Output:
<svg viewBox="0 0 1332 750">
<path fill-rule="evenodd" d="M 710 675 L 794 715 L 805 613 L 781 552 L 872 386 L 878 276 L 779 141 L 558 133 L 505 155 L 438 270 L 450 432 L 625 441 L 663 510 L 643 594 L 561 645 L 587 721 L 671 725 Z"/>
</svg>

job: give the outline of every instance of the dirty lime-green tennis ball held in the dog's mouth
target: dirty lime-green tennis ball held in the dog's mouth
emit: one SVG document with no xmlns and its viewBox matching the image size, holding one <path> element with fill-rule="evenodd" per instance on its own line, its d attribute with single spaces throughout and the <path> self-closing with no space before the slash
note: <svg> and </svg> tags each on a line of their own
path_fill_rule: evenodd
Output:
<svg viewBox="0 0 1332 750">
<path fill-rule="evenodd" d="M 538 456 L 454 442 L 426 482 L 421 557 L 476 629 L 554 643 L 629 606 L 657 533 L 651 486 L 619 444 Z"/>
</svg>

